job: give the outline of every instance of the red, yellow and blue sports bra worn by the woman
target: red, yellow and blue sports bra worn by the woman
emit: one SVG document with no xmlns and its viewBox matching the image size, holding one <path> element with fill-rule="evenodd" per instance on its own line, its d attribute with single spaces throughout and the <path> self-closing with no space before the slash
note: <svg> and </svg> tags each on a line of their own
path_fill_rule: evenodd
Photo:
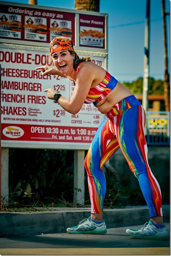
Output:
<svg viewBox="0 0 171 256">
<path fill-rule="evenodd" d="M 77 74 L 79 72 L 80 63 L 77 67 Z M 97 105 L 105 96 L 107 96 L 116 86 L 118 80 L 116 80 L 113 76 L 111 76 L 107 71 L 105 78 L 103 81 L 96 85 L 93 88 L 90 88 L 88 95 L 86 96 L 85 102 L 86 104 L 93 103 Z M 75 82 L 74 82 L 75 84 Z"/>
</svg>

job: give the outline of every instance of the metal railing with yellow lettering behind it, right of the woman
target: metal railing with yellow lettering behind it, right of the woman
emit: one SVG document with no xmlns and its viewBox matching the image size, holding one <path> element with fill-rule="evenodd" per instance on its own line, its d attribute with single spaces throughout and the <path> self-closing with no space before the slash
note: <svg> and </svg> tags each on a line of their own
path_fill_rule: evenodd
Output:
<svg viewBox="0 0 171 256">
<path fill-rule="evenodd" d="M 170 111 L 146 111 L 147 145 L 170 145 Z"/>
</svg>

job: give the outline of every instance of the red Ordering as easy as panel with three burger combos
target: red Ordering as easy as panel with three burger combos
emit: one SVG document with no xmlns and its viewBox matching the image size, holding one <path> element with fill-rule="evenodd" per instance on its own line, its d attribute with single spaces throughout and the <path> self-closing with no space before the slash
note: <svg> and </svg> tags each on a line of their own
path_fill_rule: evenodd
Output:
<svg viewBox="0 0 171 256">
<path fill-rule="evenodd" d="M 75 45 L 75 14 L 0 4 L 0 37 L 49 43 L 68 37 Z M 3 12 L 2 12 L 3 10 Z"/>
</svg>

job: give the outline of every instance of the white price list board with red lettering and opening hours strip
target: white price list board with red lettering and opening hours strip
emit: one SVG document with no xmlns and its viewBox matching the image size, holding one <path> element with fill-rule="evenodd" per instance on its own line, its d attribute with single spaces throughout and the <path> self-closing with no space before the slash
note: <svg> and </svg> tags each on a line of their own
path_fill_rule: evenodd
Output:
<svg viewBox="0 0 171 256">
<path fill-rule="evenodd" d="M 83 57 L 83 56 L 80 56 Z M 103 57 L 91 61 L 104 67 Z M 74 83 L 42 76 L 36 67 L 51 65 L 49 52 L 0 48 L 1 140 L 9 143 L 87 145 L 104 119 L 93 104 L 83 104 L 76 115 L 47 98 L 46 88 L 71 98 Z"/>
</svg>

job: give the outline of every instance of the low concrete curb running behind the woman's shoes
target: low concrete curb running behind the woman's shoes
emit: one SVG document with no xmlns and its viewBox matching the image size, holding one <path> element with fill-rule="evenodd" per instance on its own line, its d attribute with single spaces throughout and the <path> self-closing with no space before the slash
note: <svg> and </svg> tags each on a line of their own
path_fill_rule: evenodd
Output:
<svg viewBox="0 0 171 256">
<path fill-rule="evenodd" d="M 163 205 L 164 222 L 170 221 L 170 206 Z M 50 212 L 0 213 L 0 237 L 64 233 L 90 215 L 90 208 L 55 208 Z M 104 209 L 107 228 L 142 225 L 149 220 L 147 206 Z"/>
</svg>

